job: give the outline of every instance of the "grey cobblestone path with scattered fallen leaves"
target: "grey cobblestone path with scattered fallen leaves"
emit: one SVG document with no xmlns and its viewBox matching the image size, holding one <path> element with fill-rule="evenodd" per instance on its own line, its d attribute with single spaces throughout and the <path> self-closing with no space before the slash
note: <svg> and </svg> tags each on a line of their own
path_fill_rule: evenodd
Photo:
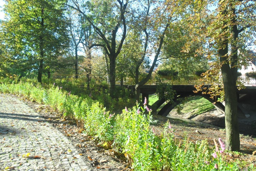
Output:
<svg viewBox="0 0 256 171">
<path fill-rule="evenodd" d="M 90 170 L 51 123 L 18 98 L 0 94 L 0 170 L 8 169 Z"/>
</svg>

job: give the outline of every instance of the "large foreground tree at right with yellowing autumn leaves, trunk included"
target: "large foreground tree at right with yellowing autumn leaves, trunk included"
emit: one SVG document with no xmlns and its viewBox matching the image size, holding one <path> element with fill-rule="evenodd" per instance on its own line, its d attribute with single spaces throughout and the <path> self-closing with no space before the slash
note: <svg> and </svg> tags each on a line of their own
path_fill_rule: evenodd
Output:
<svg viewBox="0 0 256 171">
<path fill-rule="evenodd" d="M 213 11 L 207 4 L 217 6 Z M 215 59 L 212 70 L 206 76 L 218 79 L 221 72 L 225 98 L 225 127 L 227 149 L 240 148 L 237 119 L 237 69 L 245 64 L 244 52 L 255 37 L 255 2 L 243 0 L 196 1 L 198 15 L 190 20 L 197 29 L 197 41 L 204 42 L 202 52 Z M 208 18 L 208 19 L 207 19 Z M 203 20 L 204 19 L 204 20 Z M 205 22 L 208 21 L 208 22 Z M 239 36 L 240 35 L 240 36 Z M 255 45 L 254 45 L 255 46 Z M 216 86 L 215 86 L 216 87 Z M 217 88 L 219 88 L 217 86 Z M 220 93 L 221 94 L 221 93 Z"/>
</svg>

